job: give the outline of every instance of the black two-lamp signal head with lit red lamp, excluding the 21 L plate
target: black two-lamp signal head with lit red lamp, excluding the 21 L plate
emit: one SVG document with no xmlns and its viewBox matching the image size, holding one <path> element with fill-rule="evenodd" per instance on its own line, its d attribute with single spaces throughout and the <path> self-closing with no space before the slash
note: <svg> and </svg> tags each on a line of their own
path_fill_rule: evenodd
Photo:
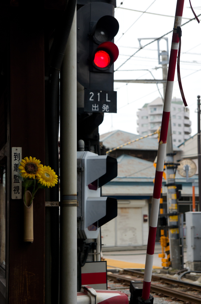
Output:
<svg viewBox="0 0 201 304">
<path fill-rule="evenodd" d="M 84 88 L 113 91 L 118 30 L 111 4 L 92 2 L 77 10 L 77 81 Z"/>
</svg>

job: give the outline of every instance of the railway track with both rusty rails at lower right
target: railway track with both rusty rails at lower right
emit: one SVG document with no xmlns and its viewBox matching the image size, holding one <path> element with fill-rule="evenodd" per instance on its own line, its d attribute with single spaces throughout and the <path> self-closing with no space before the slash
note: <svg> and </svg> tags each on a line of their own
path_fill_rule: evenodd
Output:
<svg viewBox="0 0 201 304">
<path fill-rule="evenodd" d="M 109 265 L 108 265 L 109 266 Z M 113 267 L 113 266 L 110 266 Z M 117 268 L 117 267 L 113 267 Z M 121 271 L 123 271 L 123 274 L 113 274 L 113 273 L 107 273 L 107 277 L 113 280 L 123 281 L 130 284 L 131 280 L 136 280 L 136 276 L 144 277 L 144 273 L 141 271 L 136 270 L 128 270 L 123 268 L 117 268 Z M 126 276 L 127 275 L 127 276 Z M 129 278 L 128 278 L 129 275 Z M 155 292 L 157 294 L 162 294 L 171 298 L 176 298 L 178 300 L 184 301 L 184 302 L 191 302 L 193 304 L 201 304 L 201 286 L 192 284 L 189 282 L 181 282 L 175 279 L 171 278 L 165 278 L 159 275 L 152 275 L 152 280 L 157 281 L 157 283 L 151 283 L 151 291 Z M 159 281 L 159 282 L 158 282 Z M 159 284 L 159 285 L 158 285 Z M 163 286 L 162 284 L 169 284 L 169 286 Z M 178 287 L 186 287 L 187 291 L 192 292 L 196 291 L 199 292 L 199 294 L 189 293 L 185 291 L 182 291 L 180 289 L 176 289 Z M 189 289 L 189 290 L 188 290 Z"/>
</svg>

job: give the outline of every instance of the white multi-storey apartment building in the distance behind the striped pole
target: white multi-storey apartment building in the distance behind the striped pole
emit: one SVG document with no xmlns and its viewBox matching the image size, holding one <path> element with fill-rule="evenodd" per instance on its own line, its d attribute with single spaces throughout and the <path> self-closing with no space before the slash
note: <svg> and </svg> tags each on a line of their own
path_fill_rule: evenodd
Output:
<svg viewBox="0 0 201 304">
<path fill-rule="evenodd" d="M 137 112 L 138 128 L 141 135 L 155 132 L 161 126 L 163 113 L 163 101 L 158 97 L 150 103 L 145 103 Z M 178 98 L 172 99 L 171 110 L 172 141 L 175 146 L 189 139 L 191 134 L 191 121 L 189 120 L 189 109 L 184 106 L 183 101 Z M 157 135 L 154 135 L 157 137 Z"/>
</svg>

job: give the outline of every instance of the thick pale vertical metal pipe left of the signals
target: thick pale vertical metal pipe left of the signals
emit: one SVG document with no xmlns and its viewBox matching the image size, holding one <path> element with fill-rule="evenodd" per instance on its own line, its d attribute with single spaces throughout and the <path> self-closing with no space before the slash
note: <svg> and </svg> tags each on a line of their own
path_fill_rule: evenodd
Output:
<svg viewBox="0 0 201 304">
<path fill-rule="evenodd" d="M 60 304 L 77 303 L 77 37 L 76 14 L 66 45 L 60 111 Z"/>
</svg>

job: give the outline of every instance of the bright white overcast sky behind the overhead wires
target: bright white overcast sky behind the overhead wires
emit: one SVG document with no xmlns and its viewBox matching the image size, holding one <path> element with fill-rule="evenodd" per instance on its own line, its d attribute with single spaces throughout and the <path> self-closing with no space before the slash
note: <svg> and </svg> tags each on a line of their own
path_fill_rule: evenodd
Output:
<svg viewBox="0 0 201 304">
<path fill-rule="evenodd" d="M 121 1 L 123 4 L 121 5 Z M 153 3 L 153 4 L 152 4 Z M 197 15 L 201 14 L 201 2 L 192 0 L 192 6 Z M 150 6 L 151 5 L 151 6 Z M 156 14 L 175 16 L 176 0 L 117 0 L 115 18 L 119 22 L 119 32 L 115 37 L 115 44 L 119 48 L 119 57 L 114 64 L 116 70 L 139 47 L 138 38 L 157 38 L 172 30 L 174 18 L 158 16 L 153 14 L 135 12 L 139 10 Z M 124 8 L 124 9 L 122 9 Z M 142 16 L 141 16 L 142 15 Z M 141 17 L 140 17 L 141 16 Z M 140 18 L 139 18 L 140 17 Z M 194 16 L 190 9 L 189 1 L 184 2 L 183 17 L 192 19 Z M 139 19 L 138 19 L 139 18 Z M 138 19 L 138 20 L 137 20 Z M 201 20 L 201 16 L 199 17 Z M 137 20 L 137 21 L 136 21 Z M 136 21 L 136 22 L 135 22 Z M 182 24 L 188 19 L 182 19 Z M 131 26 L 133 23 L 135 24 Z M 126 32 L 126 30 L 131 28 Z M 125 33 L 126 32 L 126 33 Z M 122 36 L 122 34 L 124 35 Z M 169 51 L 171 48 L 172 33 L 166 35 L 168 38 Z M 151 40 L 141 40 L 141 45 L 145 45 Z M 166 49 L 165 40 L 161 40 L 160 50 Z M 182 86 L 186 101 L 190 110 L 192 121 L 192 135 L 197 133 L 197 95 L 201 95 L 201 22 L 192 20 L 182 26 L 182 47 L 180 57 L 180 72 Z M 160 67 L 157 70 L 155 67 Z M 162 79 L 162 66 L 158 64 L 157 42 L 150 44 L 145 49 L 140 50 L 119 70 L 145 70 L 149 69 L 155 79 Z M 153 79 L 148 71 L 116 71 L 114 79 Z M 163 85 L 158 84 L 163 95 Z M 137 84 L 114 82 L 114 91 L 117 91 L 117 113 L 107 113 L 104 121 L 99 127 L 99 133 L 107 133 L 113 130 L 123 130 L 137 133 L 136 112 L 145 103 L 152 102 L 160 97 L 156 84 Z M 175 83 L 172 97 L 181 98 L 175 72 Z"/>
</svg>

